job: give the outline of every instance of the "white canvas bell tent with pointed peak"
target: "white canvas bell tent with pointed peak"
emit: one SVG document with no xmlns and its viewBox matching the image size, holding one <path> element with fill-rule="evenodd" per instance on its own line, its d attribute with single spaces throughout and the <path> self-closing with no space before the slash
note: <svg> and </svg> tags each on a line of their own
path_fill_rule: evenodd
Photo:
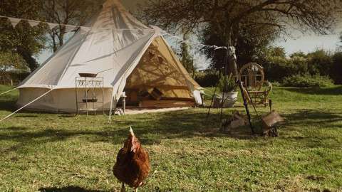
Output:
<svg viewBox="0 0 342 192">
<path fill-rule="evenodd" d="M 125 88 L 141 87 L 157 87 L 163 97 L 202 104 L 199 85 L 167 45 L 160 30 L 140 23 L 119 0 L 106 1 L 88 26 L 88 31 L 78 31 L 19 85 L 19 107 L 50 91 L 26 109 L 76 112 L 78 73 L 98 73 L 98 77 L 103 77 L 105 110 L 115 107 Z"/>
</svg>

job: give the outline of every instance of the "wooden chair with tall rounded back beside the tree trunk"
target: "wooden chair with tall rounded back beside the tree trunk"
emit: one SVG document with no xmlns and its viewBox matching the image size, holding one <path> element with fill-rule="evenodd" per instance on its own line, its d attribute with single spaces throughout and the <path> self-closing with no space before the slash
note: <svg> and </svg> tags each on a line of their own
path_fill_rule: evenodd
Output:
<svg viewBox="0 0 342 192">
<path fill-rule="evenodd" d="M 257 63 L 248 63 L 239 70 L 239 80 L 244 82 L 244 96 L 248 104 L 269 105 L 271 82 L 265 81 L 264 68 Z M 248 90 L 248 92 L 247 92 Z M 248 94 L 249 93 L 249 94 Z"/>
</svg>

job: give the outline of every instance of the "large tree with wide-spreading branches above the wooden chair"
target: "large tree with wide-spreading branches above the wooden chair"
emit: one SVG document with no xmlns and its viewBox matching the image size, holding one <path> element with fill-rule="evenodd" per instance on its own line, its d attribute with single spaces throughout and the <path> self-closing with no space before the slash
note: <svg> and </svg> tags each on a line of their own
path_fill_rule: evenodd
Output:
<svg viewBox="0 0 342 192">
<path fill-rule="evenodd" d="M 143 12 L 148 22 L 164 28 L 210 28 L 230 47 L 237 46 L 245 26 L 271 26 L 286 33 L 295 24 L 304 32 L 328 33 L 341 11 L 339 4 L 340 0 L 149 0 Z M 227 56 L 237 74 L 234 54 Z"/>
</svg>

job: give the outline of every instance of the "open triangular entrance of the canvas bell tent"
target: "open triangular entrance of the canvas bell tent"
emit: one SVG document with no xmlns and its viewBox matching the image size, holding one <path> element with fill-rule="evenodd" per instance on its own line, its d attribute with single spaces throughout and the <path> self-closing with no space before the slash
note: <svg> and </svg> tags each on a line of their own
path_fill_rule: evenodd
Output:
<svg viewBox="0 0 342 192">
<path fill-rule="evenodd" d="M 187 77 L 179 65 L 182 64 L 172 57 L 162 38 L 155 38 L 126 81 L 128 108 L 195 106 Z"/>
</svg>

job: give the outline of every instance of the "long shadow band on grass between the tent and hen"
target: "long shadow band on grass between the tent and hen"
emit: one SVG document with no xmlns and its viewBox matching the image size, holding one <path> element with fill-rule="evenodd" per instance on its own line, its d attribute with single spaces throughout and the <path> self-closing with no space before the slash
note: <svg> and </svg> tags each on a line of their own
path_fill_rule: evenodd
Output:
<svg viewBox="0 0 342 192">
<path fill-rule="evenodd" d="M 215 114 L 206 122 L 206 112 L 179 111 L 161 114 L 151 114 L 153 117 L 138 115 L 134 118 L 115 117 L 114 125 L 99 124 L 96 128 L 92 122 L 84 122 L 82 126 L 73 128 L 80 119 L 73 121 L 68 127 L 41 128 L 43 124 L 33 127 L 6 127 L 0 128 L 0 142 L 11 141 L 15 144 L 2 149 L 0 152 L 20 152 L 21 148 L 31 148 L 40 144 L 60 142 L 73 137 L 78 137 L 81 142 L 106 142 L 110 144 L 123 144 L 128 137 L 129 127 L 132 126 L 135 135 L 143 145 L 160 144 L 163 139 L 189 139 L 193 137 L 234 137 L 219 132 L 219 115 Z M 133 116 L 132 116 L 133 117 Z M 120 127 L 120 128 L 119 128 Z M 250 139 L 251 134 L 247 133 L 236 137 L 238 139 Z M 19 150 L 19 151 L 18 151 Z"/>
</svg>

